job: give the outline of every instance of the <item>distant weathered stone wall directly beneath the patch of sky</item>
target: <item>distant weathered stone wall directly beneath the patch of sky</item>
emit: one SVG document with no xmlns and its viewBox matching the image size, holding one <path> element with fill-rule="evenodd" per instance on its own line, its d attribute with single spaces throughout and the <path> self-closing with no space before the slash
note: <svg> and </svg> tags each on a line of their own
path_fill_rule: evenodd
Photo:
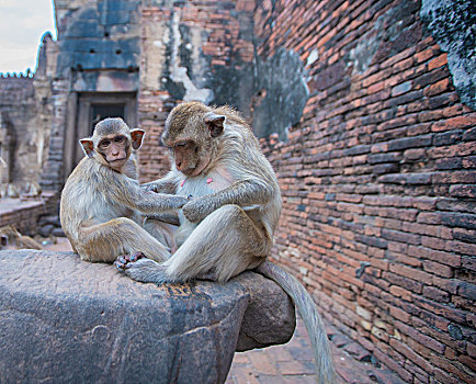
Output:
<svg viewBox="0 0 476 384">
<path fill-rule="evenodd" d="M 35 74 L 0 74 L 0 156 L 9 167 L 9 177 L 4 178 L 9 180 L 3 182 L 14 184 L 21 193 L 29 193 L 31 185 L 39 182 L 48 157 L 53 106 L 52 57 L 47 54 L 53 44 L 46 33 Z"/>
</svg>

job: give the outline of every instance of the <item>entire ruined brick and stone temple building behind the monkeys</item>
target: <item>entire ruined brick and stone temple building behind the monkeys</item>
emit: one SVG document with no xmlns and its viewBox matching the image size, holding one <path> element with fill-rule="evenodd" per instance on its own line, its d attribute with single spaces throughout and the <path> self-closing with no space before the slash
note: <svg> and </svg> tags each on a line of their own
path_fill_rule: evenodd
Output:
<svg viewBox="0 0 476 384">
<path fill-rule="evenodd" d="M 147 132 L 149 181 L 168 170 L 159 137 L 178 102 L 228 103 L 280 179 L 273 258 L 326 319 L 405 382 L 474 382 L 471 1 L 55 0 L 55 12 L 35 74 L 0 76 L 2 196 L 38 184 L 47 204 L 2 224 L 35 233 L 57 215 L 99 120 Z"/>
</svg>

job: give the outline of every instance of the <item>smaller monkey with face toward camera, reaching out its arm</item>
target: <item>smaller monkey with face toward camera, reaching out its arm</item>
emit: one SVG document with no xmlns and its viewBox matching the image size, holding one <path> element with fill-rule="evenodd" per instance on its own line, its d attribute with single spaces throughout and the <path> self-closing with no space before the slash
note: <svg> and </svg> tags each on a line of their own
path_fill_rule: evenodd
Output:
<svg viewBox="0 0 476 384">
<path fill-rule="evenodd" d="M 95 125 L 92 137 L 80 140 L 87 156 L 63 190 L 60 219 L 82 260 L 112 262 L 137 251 L 156 261 L 170 257 L 139 225 L 140 213 L 180 208 L 188 199 L 140 189 L 133 150 L 140 147 L 144 133 L 129 129 L 121 118 L 106 118 Z"/>
</svg>

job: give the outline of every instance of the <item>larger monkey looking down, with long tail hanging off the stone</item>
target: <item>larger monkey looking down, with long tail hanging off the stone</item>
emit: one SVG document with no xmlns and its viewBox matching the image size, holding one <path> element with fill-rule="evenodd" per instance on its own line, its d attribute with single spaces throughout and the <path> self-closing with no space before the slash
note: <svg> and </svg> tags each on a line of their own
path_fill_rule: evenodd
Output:
<svg viewBox="0 0 476 384">
<path fill-rule="evenodd" d="M 172 169 L 145 184 L 155 192 L 192 195 L 179 214 L 178 250 L 167 261 L 117 261 L 141 282 L 184 282 L 212 276 L 225 282 L 257 269 L 293 298 L 311 339 L 319 383 L 333 381 L 330 350 L 317 307 L 299 282 L 264 261 L 281 213 L 281 192 L 271 165 L 240 115 L 228 106 L 200 102 L 175 106 L 166 122 L 162 143 Z"/>
</svg>

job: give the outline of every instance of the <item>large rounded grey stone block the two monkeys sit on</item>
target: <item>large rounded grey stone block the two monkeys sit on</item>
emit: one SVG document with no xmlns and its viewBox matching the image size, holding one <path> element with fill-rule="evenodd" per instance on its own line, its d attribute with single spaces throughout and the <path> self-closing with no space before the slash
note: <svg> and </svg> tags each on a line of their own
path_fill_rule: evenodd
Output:
<svg viewBox="0 0 476 384">
<path fill-rule="evenodd" d="M 72 252 L 0 251 L 0 382 L 223 383 L 235 350 L 286 342 L 294 307 L 246 272 L 157 286 Z"/>
</svg>

